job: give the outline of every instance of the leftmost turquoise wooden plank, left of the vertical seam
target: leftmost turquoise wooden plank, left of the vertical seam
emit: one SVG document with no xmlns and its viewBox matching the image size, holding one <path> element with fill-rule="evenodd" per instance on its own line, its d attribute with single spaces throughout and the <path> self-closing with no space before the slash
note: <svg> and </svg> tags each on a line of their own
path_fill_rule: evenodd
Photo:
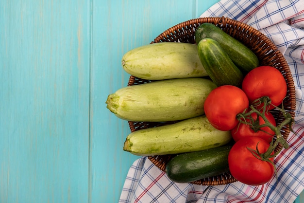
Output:
<svg viewBox="0 0 304 203">
<path fill-rule="evenodd" d="M 0 202 L 87 202 L 89 4 L 0 3 Z"/>
</svg>

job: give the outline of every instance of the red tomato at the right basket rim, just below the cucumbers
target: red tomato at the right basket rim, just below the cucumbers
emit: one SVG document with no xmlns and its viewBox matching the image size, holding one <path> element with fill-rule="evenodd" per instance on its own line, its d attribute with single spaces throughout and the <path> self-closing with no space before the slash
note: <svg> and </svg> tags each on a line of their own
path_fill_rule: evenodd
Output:
<svg viewBox="0 0 304 203">
<path fill-rule="evenodd" d="M 269 96 L 271 103 L 279 106 L 287 94 L 287 84 L 279 70 L 271 66 L 260 66 L 246 74 L 242 90 L 250 103 L 262 96 Z M 274 107 L 270 105 L 270 109 Z"/>
</svg>

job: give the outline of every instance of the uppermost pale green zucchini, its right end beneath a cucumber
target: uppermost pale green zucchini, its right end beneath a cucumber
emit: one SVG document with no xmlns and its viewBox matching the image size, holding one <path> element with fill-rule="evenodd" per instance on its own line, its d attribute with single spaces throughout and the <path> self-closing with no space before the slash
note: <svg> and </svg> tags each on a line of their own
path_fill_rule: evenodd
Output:
<svg viewBox="0 0 304 203">
<path fill-rule="evenodd" d="M 207 76 L 197 55 L 197 45 L 162 42 L 137 47 L 122 57 L 123 69 L 148 80 Z"/>
</svg>

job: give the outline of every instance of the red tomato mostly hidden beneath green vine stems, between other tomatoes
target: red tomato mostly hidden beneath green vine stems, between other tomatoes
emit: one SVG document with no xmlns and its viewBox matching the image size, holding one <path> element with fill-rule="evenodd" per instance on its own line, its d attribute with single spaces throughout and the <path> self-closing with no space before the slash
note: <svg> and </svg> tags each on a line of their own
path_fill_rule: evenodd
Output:
<svg viewBox="0 0 304 203">
<path fill-rule="evenodd" d="M 270 112 L 266 112 L 265 116 L 273 126 L 276 126 L 275 119 Z M 256 113 L 252 113 L 251 117 L 254 121 L 257 120 Z M 249 119 L 247 120 L 247 122 L 250 122 Z M 265 121 L 262 117 L 259 117 L 259 120 L 257 122 L 259 123 L 258 125 L 265 124 Z M 273 132 L 269 127 L 263 127 L 260 130 L 255 131 L 250 127 L 249 124 L 240 123 L 239 125 L 236 125 L 234 129 L 231 130 L 231 135 L 236 142 L 243 137 L 254 136 L 263 138 L 264 140 L 270 143 L 275 135 L 275 132 Z"/>
</svg>

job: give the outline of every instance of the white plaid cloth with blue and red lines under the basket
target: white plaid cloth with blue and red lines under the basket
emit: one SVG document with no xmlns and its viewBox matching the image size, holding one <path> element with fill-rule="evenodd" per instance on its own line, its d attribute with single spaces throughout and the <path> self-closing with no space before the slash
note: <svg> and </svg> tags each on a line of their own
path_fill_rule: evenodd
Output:
<svg viewBox="0 0 304 203">
<path fill-rule="evenodd" d="M 245 22 L 269 37 L 293 74 L 295 133 L 289 134 L 289 148 L 275 158 L 278 182 L 273 177 L 258 186 L 177 184 L 141 157 L 127 174 L 119 203 L 292 203 L 304 189 L 304 0 L 221 0 L 201 15 L 221 16 Z"/>
</svg>

